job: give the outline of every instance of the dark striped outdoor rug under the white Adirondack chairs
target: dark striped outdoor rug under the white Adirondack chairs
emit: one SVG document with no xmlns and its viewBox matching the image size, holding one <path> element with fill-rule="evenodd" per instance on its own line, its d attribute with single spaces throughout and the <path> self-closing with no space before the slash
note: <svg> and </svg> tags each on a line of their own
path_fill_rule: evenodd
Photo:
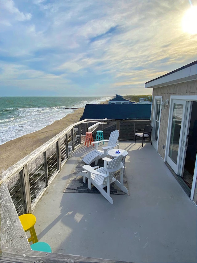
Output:
<svg viewBox="0 0 197 263">
<path fill-rule="evenodd" d="M 82 158 L 79 160 L 78 164 L 76 165 L 73 175 L 70 177 L 69 182 L 66 185 L 66 188 L 64 189 L 64 193 L 91 193 L 91 194 L 100 194 L 100 192 L 96 189 L 94 185 L 92 185 L 92 189 L 90 190 L 88 188 L 88 180 L 86 179 L 86 183 L 83 183 L 83 177 L 78 176 L 77 178 L 75 177 L 76 174 L 79 172 L 83 171 L 83 165 L 86 163 L 82 161 Z M 99 167 L 103 167 L 104 163 L 103 160 L 100 159 L 98 161 Z M 91 164 L 91 166 L 95 166 L 94 162 Z M 115 176 L 117 180 L 120 182 L 120 171 L 118 171 Z M 126 175 L 123 175 L 123 180 L 124 180 L 124 186 L 128 188 L 128 183 L 127 183 L 127 177 Z M 107 191 L 107 187 L 103 188 L 105 191 Z M 130 195 L 129 192 L 128 194 L 124 193 L 123 191 L 120 190 L 120 188 L 115 184 L 111 183 L 110 184 L 110 194 L 111 195 Z"/>
</svg>

